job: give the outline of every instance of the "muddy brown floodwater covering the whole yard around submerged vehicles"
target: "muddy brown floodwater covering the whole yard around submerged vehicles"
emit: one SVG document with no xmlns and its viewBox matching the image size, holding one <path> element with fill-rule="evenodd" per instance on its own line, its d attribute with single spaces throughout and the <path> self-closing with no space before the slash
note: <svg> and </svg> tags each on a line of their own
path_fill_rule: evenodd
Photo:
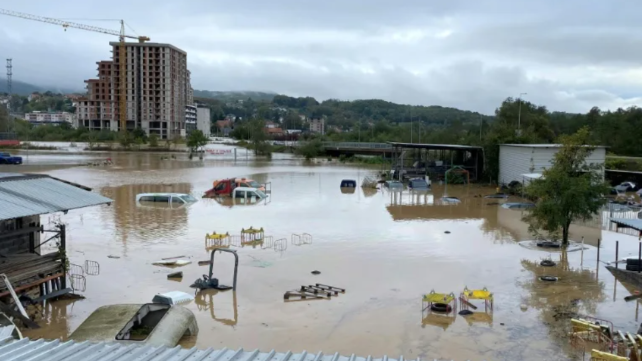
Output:
<svg viewBox="0 0 642 361">
<path fill-rule="evenodd" d="M 637 330 L 639 305 L 623 301 L 635 288 L 615 281 L 601 263 L 598 267 L 595 247 L 602 238 L 600 258 L 612 261 L 616 240 L 620 256 L 637 254 L 635 237 L 573 226 L 573 238 L 584 237 L 586 250 L 528 249 L 517 243 L 530 239 L 521 212 L 478 197 L 492 188 L 437 185 L 427 194 L 361 188 L 343 193 L 342 179 L 360 183 L 376 170 L 308 164 L 285 154 L 275 154 L 272 161 L 246 159 L 240 155 L 245 150 L 238 152 L 236 161 L 232 152 L 207 154 L 204 161 L 189 161 L 184 154 L 162 161 L 161 154 L 33 152 L 31 166 L 37 169 L 43 157 L 40 164 L 47 173 L 92 187 L 114 203 L 43 216 L 45 225 L 57 218 L 68 225 L 71 263 L 96 261 L 100 273 L 85 274 L 80 293 L 86 299 L 48 304 L 45 326 L 26 335 L 64 339 L 99 306 L 146 303 L 172 290 L 192 293 L 189 285 L 208 270 L 197 265 L 209 258 L 205 234 L 238 235 L 250 226 L 263 227 L 275 240 L 287 238 L 288 248 L 236 247 L 238 290 L 200 292 L 185 305 L 195 313 L 200 333 L 182 340 L 184 346 L 448 360 L 577 360 L 581 353 L 566 339 L 569 315 L 593 315 L 621 330 Z M 110 157 L 114 166 L 51 170 L 48 157 L 60 164 Z M 14 168 L 0 171 L 6 169 Z M 271 182 L 272 195 L 267 202 L 247 205 L 213 199 L 178 209 L 135 204 L 135 195 L 148 191 L 200 197 L 214 179 L 225 177 Z M 444 191 L 462 203 L 441 205 Z M 311 234 L 311 244 L 290 242 L 292 234 L 302 233 Z M 193 263 L 178 269 L 152 265 L 175 256 Z M 539 261 L 549 257 L 557 267 L 540 267 Z M 217 254 L 214 274 L 221 283 L 231 284 L 233 265 L 232 256 Z M 182 281 L 167 279 L 175 270 L 184 272 Z M 313 275 L 313 270 L 321 273 Z M 542 282 L 542 275 L 560 279 Z M 284 302 L 284 292 L 314 283 L 347 292 L 329 301 Z M 458 295 L 464 286 L 494 292 L 493 312 L 484 313 L 483 303 L 476 302 L 480 313 L 473 316 L 422 313 L 422 294 Z"/>
</svg>

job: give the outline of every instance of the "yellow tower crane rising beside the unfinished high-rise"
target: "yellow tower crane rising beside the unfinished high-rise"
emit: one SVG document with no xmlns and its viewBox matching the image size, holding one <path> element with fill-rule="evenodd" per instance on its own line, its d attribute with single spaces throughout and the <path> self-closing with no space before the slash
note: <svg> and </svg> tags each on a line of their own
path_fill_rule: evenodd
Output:
<svg viewBox="0 0 642 361">
<path fill-rule="evenodd" d="M 14 12 L 12 10 L 4 10 L 0 9 L 0 14 L 2 15 L 9 15 L 13 17 L 21 17 L 22 19 L 28 19 L 28 20 L 35 20 L 35 21 L 40 21 L 40 22 L 46 22 L 48 24 L 54 24 L 54 25 L 60 25 L 62 28 L 64 28 L 65 31 L 67 31 L 67 28 L 74 28 L 74 29 L 80 29 L 80 30 L 87 30 L 87 31 L 94 31 L 96 33 L 103 33 L 107 35 L 116 35 L 118 39 L 120 40 L 120 46 L 119 46 L 119 82 L 120 82 L 120 92 L 118 94 L 118 101 L 119 101 L 119 110 L 120 110 L 120 128 L 121 131 L 125 132 L 127 130 L 127 87 L 126 87 L 126 82 L 127 82 L 127 64 L 126 64 L 126 58 L 125 58 L 125 39 L 137 39 L 138 42 L 146 42 L 149 41 L 150 38 L 148 37 L 136 37 L 132 35 L 126 35 L 125 34 L 125 21 L 121 20 L 121 30 L 120 32 L 114 31 L 114 30 L 109 30 L 109 29 L 103 29 L 103 28 L 98 28 L 97 26 L 90 26 L 90 25 L 85 25 L 85 24 L 78 24 L 76 22 L 69 22 L 69 21 L 64 21 L 64 20 L 59 20 L 59 19 L 53 19 L 51 17 L 44 17 L 44 16 L 38 16 L 38 15 L 31 15 L 28 13 L 21 13 L 21 12 Z"/>
</svg>

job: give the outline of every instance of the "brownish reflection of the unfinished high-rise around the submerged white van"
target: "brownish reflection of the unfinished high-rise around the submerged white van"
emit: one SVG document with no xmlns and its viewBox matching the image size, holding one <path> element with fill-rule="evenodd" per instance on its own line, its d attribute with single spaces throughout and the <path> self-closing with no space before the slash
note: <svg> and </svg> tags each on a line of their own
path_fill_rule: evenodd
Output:
<svg viewBox="0 0 642 361">
<path fill-rule="evenodd" d="M 189 183 L 175 184 L 126 184 L 117 187 L 103 187 L 100 193 L 112 198 L 116 233 L 123 242 L 130 234 L 137 240 L 149 241 L 157 238 L 175 238 L 186 233 L 189 207 L 171 205 L 137 206 L 139 193 L 191 193 Z"/>
</svg>

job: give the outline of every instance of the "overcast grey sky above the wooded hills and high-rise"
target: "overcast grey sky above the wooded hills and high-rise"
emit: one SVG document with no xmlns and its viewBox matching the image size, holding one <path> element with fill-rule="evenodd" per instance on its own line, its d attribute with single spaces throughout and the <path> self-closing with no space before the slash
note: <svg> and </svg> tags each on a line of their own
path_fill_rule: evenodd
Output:
<svg viewBox="0 0 642 361">
<path fill-rule="evenodd" d="M 9 4 L 10 3 L 10 4 Z M 187 51 L 195 89 L 382 98 L 490 114 L 507 96 L 586 112 L 642 102 L 639 0 L 2 1 Z M 133 29 L 133 30 L 132 30 Z M 135 31 L 135 32 L 134 32 Z M 100 33 L 0 15 L 13 79 L 82 88 Z M 2 75 L 4 77 L 4 75 Z"/>
</svg>

